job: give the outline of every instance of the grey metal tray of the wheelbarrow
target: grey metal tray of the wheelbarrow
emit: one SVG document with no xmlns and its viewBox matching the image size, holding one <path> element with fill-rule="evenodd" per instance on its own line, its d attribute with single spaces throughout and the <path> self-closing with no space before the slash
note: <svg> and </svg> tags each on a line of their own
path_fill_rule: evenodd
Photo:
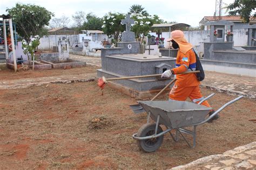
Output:
<svg viewBox="0 0 256 170">
<path fill-rule="evenodd" d="M 203 122 L 212 108 L 186 101 L 138 101 L 150 117 L 171 129 Z"/>
</svg>

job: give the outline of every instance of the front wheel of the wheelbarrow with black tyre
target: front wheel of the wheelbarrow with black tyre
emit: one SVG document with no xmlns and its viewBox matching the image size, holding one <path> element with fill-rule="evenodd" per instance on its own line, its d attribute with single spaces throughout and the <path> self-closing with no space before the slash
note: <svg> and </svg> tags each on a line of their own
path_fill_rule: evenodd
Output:
<svg viewBox="0 0 256 170">
<path fill-rule="evenodd" d="M 146 137 L 154 134 L 156 130 L 156 123 L 144 124 L 138 130 L 137 137 Z M 161 126 L 158 126 L 157 134 L 163 132 Z M 144 152 L 154 152 L 163 143 L 164 136 L 160 136 L 153 139 L 137 140 L 139 148 Z"/>
</svg>

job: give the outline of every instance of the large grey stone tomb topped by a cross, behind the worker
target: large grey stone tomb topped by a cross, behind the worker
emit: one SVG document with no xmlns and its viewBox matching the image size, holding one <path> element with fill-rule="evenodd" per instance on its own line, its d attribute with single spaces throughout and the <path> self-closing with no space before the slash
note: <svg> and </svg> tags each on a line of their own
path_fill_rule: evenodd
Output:
<svg viewBox="0 0 256 170">
<path fill-rule="evenodd" d="M 130 31 L 133 22 L 130 15 L 126 15 L 126 19 L 122 20 L 122 24 L 127 24 L 126 31 L 122 33 L 122 42 L 117 42 L 116 48 L 101 49 L 102 69 L 97 70 L 98 78 L 160 74 L 174 67 L 175 58 L 138 54 L 140 43 L 135 41 L 134 33 Z M 147 77 L 109 81 L 108 85 L 137 99 L 149 99 L 169 82 L 166 79 Z"/>
</svg>

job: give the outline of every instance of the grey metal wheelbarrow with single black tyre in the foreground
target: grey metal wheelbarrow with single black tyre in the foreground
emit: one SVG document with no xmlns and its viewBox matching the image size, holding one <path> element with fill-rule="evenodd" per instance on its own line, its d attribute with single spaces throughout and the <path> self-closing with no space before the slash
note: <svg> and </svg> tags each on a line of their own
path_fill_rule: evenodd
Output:
<svg viewBox="0 0 256 170">
<path fill-rule="evenodd" d="M 214 94 L 206 97 L 203 101 L 212 97 Z M 138 101 L 138 103 L 147 112 L 147 123 L 140 127 L 137 133 L 133 134 L 133 139 L 137 140 L 139 148 L 144 152 L 154 152 L 163 143 L 164 134 L 170 133 L 174 141 L 179 140 L 179 134 L 184 138 L 188 146 L 196 147 L 196 128 L 200 124 L 209 121 L 221 110 L 228 105 L 240 100 L 243 96 L 239 96 L 234 100 L 224 104 L 215 111 L 211 116 L 206 117 L 212 108 L 200 105 L 200 103 L 192 103 L 186 101 Z M 149 123 L 150 118 L 155 123 Z M 164 125 L 166 130 L 163 131 L 160 125 Z M 193 126 L 193 130 L 185 129 Z M 171 132 L 174 130 L 175 133 Z M 184 134 L 193 137 L 193 145 L 186 139 Z"/>
</svg>

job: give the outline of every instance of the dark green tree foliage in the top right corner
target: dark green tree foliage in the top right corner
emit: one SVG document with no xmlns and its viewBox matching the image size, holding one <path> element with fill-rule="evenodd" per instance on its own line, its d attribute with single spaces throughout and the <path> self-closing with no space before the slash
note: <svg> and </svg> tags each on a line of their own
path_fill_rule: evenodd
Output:
<svg viewBox="0 0 256 170">
<path fill-rule="evenodd" d="M 254 0 L 235 0 L 234 3 L 227 5 L 225 8 L 230 15 L 234 16 L 238 14 L 245 23 L 248 23 L 252 16 L 256 17 L 256 12 L 251 15 L 255 7 L 256 1 Z"/>
</svg>

